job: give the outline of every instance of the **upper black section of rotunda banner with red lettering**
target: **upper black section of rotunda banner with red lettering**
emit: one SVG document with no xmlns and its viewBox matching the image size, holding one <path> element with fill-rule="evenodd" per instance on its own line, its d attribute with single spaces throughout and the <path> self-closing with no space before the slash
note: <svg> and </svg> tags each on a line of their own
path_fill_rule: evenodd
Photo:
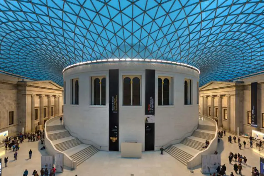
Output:
<svg viewBox="0 0 264 176">
<path fill-rule="evenodd" d="M 146 70 L 145 115 L 155 114 L 155 70 Z"/>
</svg>

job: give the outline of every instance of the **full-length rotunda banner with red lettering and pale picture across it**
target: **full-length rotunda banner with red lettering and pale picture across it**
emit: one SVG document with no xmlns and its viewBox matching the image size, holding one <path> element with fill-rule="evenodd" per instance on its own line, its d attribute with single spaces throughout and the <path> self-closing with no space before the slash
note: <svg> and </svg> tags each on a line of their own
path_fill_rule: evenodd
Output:
<svg viewBox="0 0 264 176">
<path fill-rule="evenodd" d="M 145 74 L 145 151 L 155 146 L 155 70 Z"/>
</svg>

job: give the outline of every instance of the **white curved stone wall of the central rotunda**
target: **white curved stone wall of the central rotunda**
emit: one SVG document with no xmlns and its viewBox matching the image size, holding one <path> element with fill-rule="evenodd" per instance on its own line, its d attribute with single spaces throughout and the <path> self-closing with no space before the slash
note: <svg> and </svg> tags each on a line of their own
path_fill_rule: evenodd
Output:
<svg viewBox="0 0 264 176">
<path fill-rule="evenodd" d="M 198 125 L 197 82 L 192 68 L 163 63 L 113 62 L 79 65 L 64 71 L 64 123 L 73 136 L 100 150 L 109 150 L 109 70 L 119 70 L 119 151 L 121 143 L 137 141 L 145 150 L 145 70 L 155 70 L 155 150 L 186 137 Z M 123 76 L 140 76 L 140 106 L 123 106 Z M 91 105 L 91 79 L 106 77 L 106 105 Z M 158 105 L 158 77 L 172 77 L 172 105 Z M 79 104 L 70 104 L 71 79 L 79 81 Z M 185 105 L 184 82 L 192 80 L 191 105 Z M 189 84 L 188 84 L 189 85 Z M 199 84 L 198 84 L 199 85 Z M 188 92 L 188 95 L 190 92 Z M 180 142 L 180 141 L 179 141 Z"/>
</svg>

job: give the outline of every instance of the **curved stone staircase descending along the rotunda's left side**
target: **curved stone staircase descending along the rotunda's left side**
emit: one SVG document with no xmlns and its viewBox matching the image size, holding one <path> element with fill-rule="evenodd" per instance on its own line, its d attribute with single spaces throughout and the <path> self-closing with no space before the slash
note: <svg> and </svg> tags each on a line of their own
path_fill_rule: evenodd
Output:
<svg viewBox="0 0 264 176">
<path fill-rule="evenodd" d="M 77 166 L 99 151 L 94 146 L 83 144 L 78 138 L 71 136 L 64 125 L 47 126 L 46 132 L 55 148 L 70 156 Z"/>
</svg>

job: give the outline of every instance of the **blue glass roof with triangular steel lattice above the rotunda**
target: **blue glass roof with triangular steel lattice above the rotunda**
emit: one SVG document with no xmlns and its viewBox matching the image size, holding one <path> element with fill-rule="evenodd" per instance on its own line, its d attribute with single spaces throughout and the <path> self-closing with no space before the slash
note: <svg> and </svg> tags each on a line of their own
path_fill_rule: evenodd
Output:
<svg viewBox="0 0 264 176">
<path fill-rule="evenodd" d="M 68 65 L 142 57 L 197 67 L 200 85 L 232 79 L 264 70 L 263 13 L 262 0 L 1 0 L 0 70 L 62 85 Z"/>
</svg>

